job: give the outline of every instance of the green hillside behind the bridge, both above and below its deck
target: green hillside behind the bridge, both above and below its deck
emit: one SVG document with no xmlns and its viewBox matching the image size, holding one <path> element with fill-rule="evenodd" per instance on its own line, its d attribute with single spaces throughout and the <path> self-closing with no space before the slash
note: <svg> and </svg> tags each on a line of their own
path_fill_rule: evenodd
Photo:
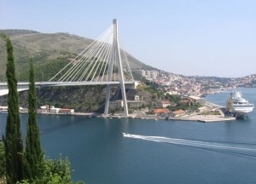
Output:
<svg viewBox="0 0 256 184">
<path fill-rule="evenodd" d="M 67 33 L 45 34 L 28 30 L 0 30 L 7 34 L 14 46 L 16 72 L 19 81 L 28 80 L 29 57 L 35 63 L 34 71 L 37 81 L 47 81 L 67 65 L 70 60 L 84 50 L 92 39 Z M 0 81 L 6 81 L 5 42 L 0 40 Z M 151 66 L 126 54 L 131 68 L 154 69 Z M 125 57 L 122 55 L 122 57 Z M 141 78 L 135 73 L 135 78 Z M 113 88 L 111 94 L 117 92 Z M 74 108 L 76 112 L 102 112 L 105 104 L 106 86 L 73 86 L 37 89 L 38 106 L 45 104 L 57 107 Z M 70 95 L 72 94 L 72 95 Z M 27 91 L 19 93 L 20 106 L 27 107 Z M 0 104 L 7 105 L 7 95 L 0 96 Z"/>
</svg>

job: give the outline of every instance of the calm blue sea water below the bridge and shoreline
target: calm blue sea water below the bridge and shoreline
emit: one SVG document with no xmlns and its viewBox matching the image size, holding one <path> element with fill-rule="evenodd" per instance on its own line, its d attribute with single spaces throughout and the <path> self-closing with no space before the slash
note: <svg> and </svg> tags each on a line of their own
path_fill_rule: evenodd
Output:
<svg viewBox="0 0 256 184">
<path fill-rule="evenodd" d="M 241 93 L 256 104 L 256 89 Z M 229 94 L 206 100 L 224 106 Z M 6 116 L 0 114 L 1 135 Z M 25 136 L 27 115 L 20 118 Z M 244 120 L 217 123 L 38 115 L 38 124 L 45 154 L 68 157 L 73 181 L 256 183 L 255 110 Z"/>
</svg>

